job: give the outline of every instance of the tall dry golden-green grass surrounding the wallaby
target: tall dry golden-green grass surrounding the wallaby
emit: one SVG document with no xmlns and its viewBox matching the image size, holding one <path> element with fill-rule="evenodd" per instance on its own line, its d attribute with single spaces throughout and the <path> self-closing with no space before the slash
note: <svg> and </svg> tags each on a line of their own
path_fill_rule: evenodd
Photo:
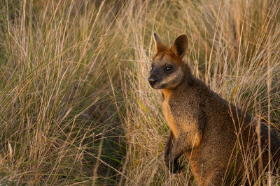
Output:
<svg viewBox="0 0 280 186">
<path fill-rule="evenodd" d="M 223 98 L 279 126 L 280 1 L 1 1 L 1 185 L 195 185 L 163 163 L 152 33 Z M 265 177 L 280 183 L 280 177 Z"/>
</svg>

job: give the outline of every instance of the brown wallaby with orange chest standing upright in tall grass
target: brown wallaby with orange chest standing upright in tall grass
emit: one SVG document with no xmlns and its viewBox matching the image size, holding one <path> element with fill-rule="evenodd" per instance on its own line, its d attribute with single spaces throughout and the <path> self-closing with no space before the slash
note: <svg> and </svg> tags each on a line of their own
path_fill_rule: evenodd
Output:
<svg viewBox="0 0 280 186">
<path fill-rule="evenodd" d="M 162 89 L 162 111 L 170 128 L 165 164 L 172 173 L 183 168 L 179 157 L 184 154 L 199 185 L 230 185 L 242 182 L 238 178 L 244 173 L 244 164 L 247 172 L 258 177 L 269 160 L 280 159 L 276 134 L 192 75 L 183 62 L 188 48 L 186 35 L 176 38 L 172 47 L 163 44 L 155 33 L 154 40 L 156 54 L 148 82 Z M 243 183 L 248 184 L 248 180 Z"/>
</svg>

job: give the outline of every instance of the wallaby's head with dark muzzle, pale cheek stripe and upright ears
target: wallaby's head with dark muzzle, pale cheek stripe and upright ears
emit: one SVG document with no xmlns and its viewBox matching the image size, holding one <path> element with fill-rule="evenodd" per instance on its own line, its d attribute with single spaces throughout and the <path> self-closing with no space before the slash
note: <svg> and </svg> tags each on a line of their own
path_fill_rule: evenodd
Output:
<svg viewBox="0 0 280 186">
<path fill-rule="evenodd" d="M 156 54 L 152 62 L 148 82 L 153 88 L 176 88 L 183 77 L 185 63 L 183 57 L 188 48 L 188 38 L 185 34 L 174 41 L 172 47 L 167 47 L 154 33 Z"/>
</svg>

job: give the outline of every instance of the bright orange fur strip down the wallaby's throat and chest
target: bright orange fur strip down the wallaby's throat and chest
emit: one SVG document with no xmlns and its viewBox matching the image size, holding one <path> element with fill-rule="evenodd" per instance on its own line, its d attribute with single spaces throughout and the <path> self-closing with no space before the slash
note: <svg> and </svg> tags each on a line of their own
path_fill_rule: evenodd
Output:
<svg viewBox="0 0 280 186">
<path fill-rule="evenodd" d="M 170 95 L 172 94 L 172 91 L 168 90 L 168 89 L 163 89 L 162 92 L 165 96 L 165 98 L 162 102 L 163 115 L 165 116 L 167 125 L 170 128 L 170 130 L 172 130 L 174 137 L 177 138 L 178 137 L 178 126 L 175 123 L 174 116 L 172 115 L 172 112 L 171 112 L 170 106 L 169 106 L 169 98 L 170 98 Z"/>
</svg>

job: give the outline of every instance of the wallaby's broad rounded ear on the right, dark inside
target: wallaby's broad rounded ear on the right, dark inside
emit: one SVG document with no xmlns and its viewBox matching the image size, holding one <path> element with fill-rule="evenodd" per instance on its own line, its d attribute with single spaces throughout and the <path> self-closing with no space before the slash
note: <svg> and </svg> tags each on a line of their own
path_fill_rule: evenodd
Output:
<svg viewBox="0 0 280 186">
<path fill-rule="evenodd" d="M 176 38 L 174 44 L 171 47 L 172 52 L 179 57 L 179 59 L 183 59 L 188 49 L 188 38 L 185 34 Z"/>
</svg>

